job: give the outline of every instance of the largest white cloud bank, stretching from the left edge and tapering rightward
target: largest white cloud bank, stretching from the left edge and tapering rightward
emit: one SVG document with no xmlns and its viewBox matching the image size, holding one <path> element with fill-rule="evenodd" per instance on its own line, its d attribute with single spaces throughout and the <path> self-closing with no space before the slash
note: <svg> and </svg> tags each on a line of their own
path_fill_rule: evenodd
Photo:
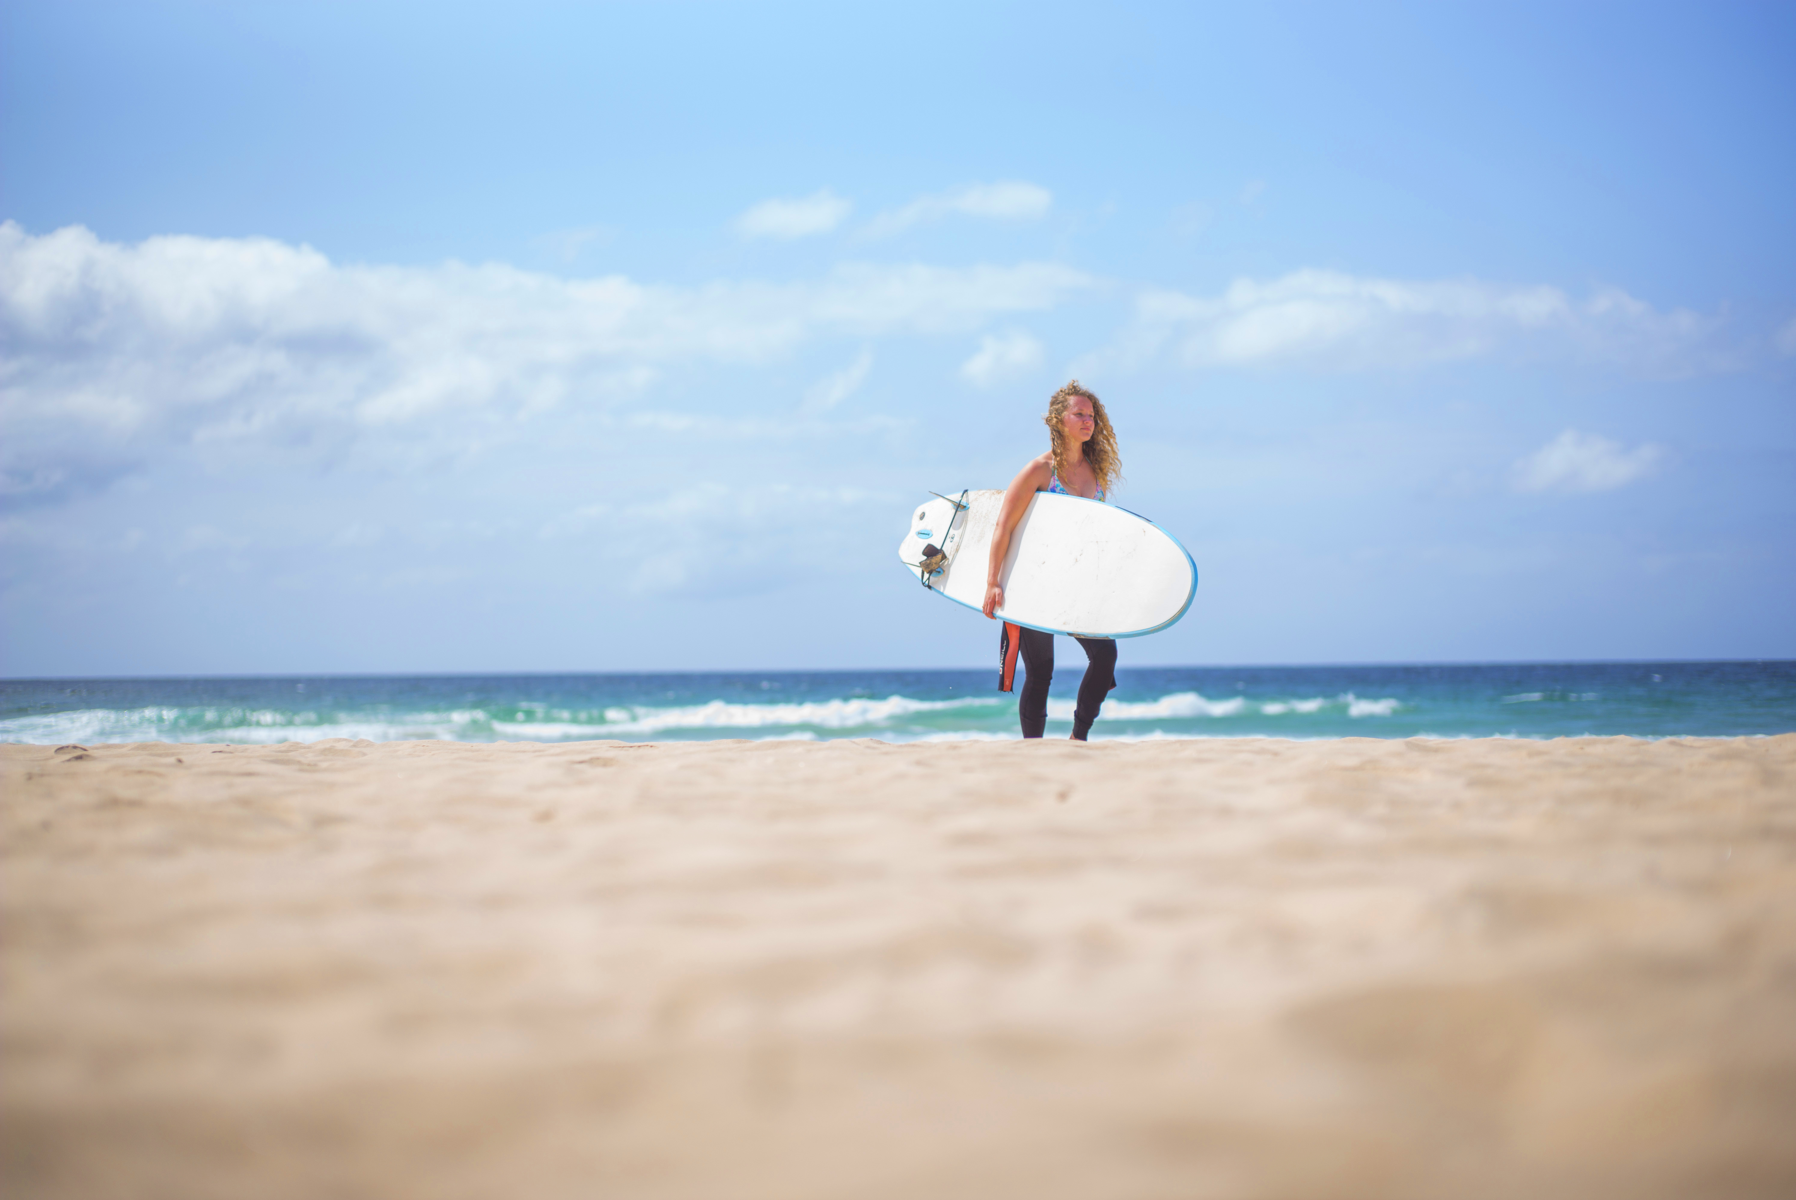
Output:
<svg viewBox="0 0 1796 1200">
<path fill-rule="evenodd" d="M 1092 280 L 1056 264 L 842 264 L 788 284 L 557 278 L 501 264 L 338 266 L 269 239 L 102 243 L 0 225 L 7 487 L 79 490 L 160 440 L 321 444 L 641 393 L 690 363 L 824 336 L 964 334 Z M 41 485 L 41 487 L 40 487 Z M 99 483 L 95 483 L 99 485 Z"/>
</svg>

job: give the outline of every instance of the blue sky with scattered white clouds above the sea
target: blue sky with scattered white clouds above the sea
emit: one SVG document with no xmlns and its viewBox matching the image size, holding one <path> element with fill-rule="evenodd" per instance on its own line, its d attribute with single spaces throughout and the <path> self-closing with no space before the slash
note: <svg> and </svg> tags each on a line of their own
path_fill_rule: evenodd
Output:
<svg viewBox="0 0 1796 1200">
<path fill-rule="evenodd" d="M 1796 657 L 1796 5 L 0 14 L 7 675 L 984 665 L 1069 375 L 1128 663 Z"/>
</svg>

